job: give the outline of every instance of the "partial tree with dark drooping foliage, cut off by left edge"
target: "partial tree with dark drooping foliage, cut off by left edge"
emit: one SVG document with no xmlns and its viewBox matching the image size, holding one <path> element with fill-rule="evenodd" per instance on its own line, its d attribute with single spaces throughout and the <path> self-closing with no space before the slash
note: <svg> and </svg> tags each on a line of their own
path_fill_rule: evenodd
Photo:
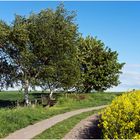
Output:
<svg viewBox="0 0 140 140">
<path fill-rule="evenodd" d="M 10 33 L 9 26 L 4 21 L 0 21 L 0 90 L 3 88 L 13 87 L 13 75 L 16 67 L 14 67 L 5 53 L 8 46 L 8 35 Z"/>
</svg>

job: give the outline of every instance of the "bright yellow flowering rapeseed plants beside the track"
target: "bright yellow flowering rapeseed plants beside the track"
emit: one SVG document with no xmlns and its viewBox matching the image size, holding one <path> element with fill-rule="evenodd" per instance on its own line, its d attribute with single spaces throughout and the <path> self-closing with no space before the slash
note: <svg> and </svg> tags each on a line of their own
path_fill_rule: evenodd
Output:
<svg viewBox="0 0 140 140">
<path fill-rule="evenodd" d="M 117 97 L 101 114 L 104 139 L 140 138 L 140 91 Z"/>
</svg>

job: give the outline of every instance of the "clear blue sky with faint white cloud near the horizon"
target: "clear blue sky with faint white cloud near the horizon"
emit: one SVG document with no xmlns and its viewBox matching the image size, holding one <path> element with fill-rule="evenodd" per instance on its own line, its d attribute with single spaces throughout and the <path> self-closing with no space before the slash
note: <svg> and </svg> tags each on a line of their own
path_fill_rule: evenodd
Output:
<svg viewBox="0 0 140 140">
<path fill-rule="evenodd" d="M 0 2 L 0 19 L 11 23 L 14 14 L 28 15 L 59 2 Z M 111 90 L 140 89 L 140 2 L 64 2 L 68 10 L 77 11 L 76 23 L 83 36 L 92 35 L 119 53 L 126 62 L 121 84 Z"/>
</svg>

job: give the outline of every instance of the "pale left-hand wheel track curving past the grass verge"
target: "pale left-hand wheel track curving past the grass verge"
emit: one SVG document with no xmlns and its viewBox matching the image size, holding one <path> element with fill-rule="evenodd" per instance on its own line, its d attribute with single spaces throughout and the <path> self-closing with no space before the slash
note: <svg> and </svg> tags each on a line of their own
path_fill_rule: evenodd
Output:
<svg viewBox="0 0 140 140">
<path fill-rule="evenodd" d="M 74 115 L 88 112 L 92 110 L 98 110 L 106 107 L 106 105 L 97 106 L 97 107 L 90 107 L 86 109 L 79 109 L 71 112 L 66 112 L 60 115 L 56 115 L 54 117 L 51 117 L 49 119 L 40 121 L 34 125 L 29 125 L 23 129 L 17 130 L 14 133 L 9 134 L 9 136 L 5 137 L 5 139 L 31 139 L 35 137 L 36 135 L 42 133 L 44 130 L 52 127 L 58 122 L 61 122 L 67 118 L 70 118 Z"/>
</svg>

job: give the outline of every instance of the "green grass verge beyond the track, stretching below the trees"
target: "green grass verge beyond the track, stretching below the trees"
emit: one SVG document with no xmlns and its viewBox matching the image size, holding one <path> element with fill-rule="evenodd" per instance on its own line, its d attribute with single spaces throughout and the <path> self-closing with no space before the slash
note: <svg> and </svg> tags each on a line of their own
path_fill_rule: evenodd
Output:
<svg viewBox="0 0 140 140">
<path fill-rule="evenodd" d="M 20 128 L 60 113 L 109 104 L 116 96 L 118 94 L 115 93 L 57 94 L 57 104 L 49 109 L 41 106 L 0 109 L 0 138 Z M 6 97 L 6 100 L 15 100 L 20 98 L 20 95 L 14 92 L 0 93 L 0 100 L 4 100 L 4 97 Z"/>
</svg>

